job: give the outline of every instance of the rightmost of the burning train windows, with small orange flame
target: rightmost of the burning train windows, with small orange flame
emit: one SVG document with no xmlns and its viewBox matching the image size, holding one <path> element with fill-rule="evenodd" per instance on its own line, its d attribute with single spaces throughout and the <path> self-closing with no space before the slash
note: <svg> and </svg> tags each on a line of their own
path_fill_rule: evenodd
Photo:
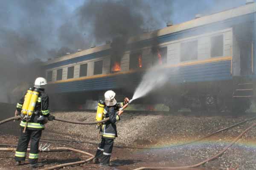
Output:
<svg viewBox="0 0 256 170">
<path fill-rule="evenodd" d="M 162 47 L 162 48 L 153 48 L 153 65 L 154 64 L 166 64 L 167 62 L 167 47 Z"/>
</svg>

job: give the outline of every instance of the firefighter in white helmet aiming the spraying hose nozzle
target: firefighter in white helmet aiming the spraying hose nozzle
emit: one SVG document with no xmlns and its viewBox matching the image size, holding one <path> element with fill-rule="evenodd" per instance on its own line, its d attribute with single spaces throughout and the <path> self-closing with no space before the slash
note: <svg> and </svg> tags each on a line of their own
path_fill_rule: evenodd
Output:
<svg viewBox="0 0 256 170">
<path fill-rule="evenodd" d="M 104 119 L 109 117 L 109 120 L 101 126 L 102 141 L 99 143 L 95 158 L 93 159 L 94 164 L 100 163 L 103 166 L 110 165 L 109 161 L 113 149 L 113 143 L 114 139 L 117 137 L 116 122 L 120 120 L 120 116 L 123 113 L 119 108 L 122 108 L 129 102 L 128 98 L 125 98 L 124 102 L 116 102 L 116 99 L 114 98 L 115 95 L 115 92 L 111 90 L 106 91 L 104 94 Z"/>
</svg>

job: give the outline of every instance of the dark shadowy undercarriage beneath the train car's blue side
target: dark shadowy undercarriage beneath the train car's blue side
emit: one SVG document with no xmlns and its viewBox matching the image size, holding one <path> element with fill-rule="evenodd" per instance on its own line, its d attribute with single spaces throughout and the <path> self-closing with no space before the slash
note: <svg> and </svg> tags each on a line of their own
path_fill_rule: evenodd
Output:
<svg viewBox="0 0 256 170">
<path fill-rule="evenodd" d="M 116 99 L 122 101 L 124 97 L 132 98 L 129 89 L 113 89 Z M 72 92 L 66 94 L 50 94 L 53 109 L 72 110 L 81 109 L 88 100 L 103 99 L 105 90 L 90 92 Z M 253 98 L 253 82 L 251 79 L 233 77 L 230 80 L 218 82 L 189 82 L 182 84 L 166 84 L 141 99 L 134 100 L 134 104 L 164 104 L 170 112 L 177 112 L 182 108 L 192 112 L 215 112 L 242 114 L 250 108 Z M 61 102 L 59 102 L 61 101 Z M 86 108 L 85 108 L 86 109 Z"/>
</svg>

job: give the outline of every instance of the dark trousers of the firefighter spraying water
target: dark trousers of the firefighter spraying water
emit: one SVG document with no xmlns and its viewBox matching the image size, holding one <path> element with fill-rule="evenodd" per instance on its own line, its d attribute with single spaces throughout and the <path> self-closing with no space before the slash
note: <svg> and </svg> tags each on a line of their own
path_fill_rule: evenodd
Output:
<svg viewBox="0 0 256 170">
<path fill-rule="evenodd" d="M 102 137 L 102 141 L 98 146 L 95 158 L 101 158 L 100 163 L 109 164 L 112 149 L 113 149 L 114 139 L 107 139 Z"/>
</svg>

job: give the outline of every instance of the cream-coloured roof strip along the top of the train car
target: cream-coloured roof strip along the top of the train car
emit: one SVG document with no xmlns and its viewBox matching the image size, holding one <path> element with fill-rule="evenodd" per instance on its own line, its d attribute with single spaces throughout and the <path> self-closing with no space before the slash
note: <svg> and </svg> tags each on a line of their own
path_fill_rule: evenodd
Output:
<svg viewBox="0 0 256 170">
<path fill-rule="evenodd" d="M 141 34 L 136 37 L 130 37 L 128 40 L 128 44 L 138 42 L 138 41 L 148 40 L 153 37 L 159 37 L 159 36 L 163 36 L 166 34 L 177 33 L 180 31 L 187 30 L 187 29 L 204 26 L 207 24 L 215 23 L 215 22 L 222 21 L 222 20 L 227 20 L 227 19 L 234 18 L 234 17 L 239 17 L 239 16 L 246 15 L 246 14 L 251 14 L 254 12 L 256 12 L 256 3 L 250 3 L 250 4 L 247 4 L 244 6 L 239 6 L 237 8 L 228 9 L 228 10 L 221 11 L 221 12 L 218 12 L 215 14 L 202 16 L 200 18 L 189 20 L 184 23 L 177 24 L 177 25 L 173 25 L 173 26 L 165 27 L 165 28 L 162 28 L 159 30 L 151 31 L 149 33 Z M 110 44 L 97 46 L 95 48 L 89 48 L 89 49 L 79 51 L 79 52 L 76 52 L 76 53 L 73 53 L 70 55 L 65 55 L 63 57 L 51 59 L 51 60 L 45 62 L 45 65 L 73 59 L 76 57 L 85 56 L 88 54 L 93 54 L 93 53 L 96 53 L 99 51 L 108 50 L 110 48 L 111 48 Z"/>
</svg>

